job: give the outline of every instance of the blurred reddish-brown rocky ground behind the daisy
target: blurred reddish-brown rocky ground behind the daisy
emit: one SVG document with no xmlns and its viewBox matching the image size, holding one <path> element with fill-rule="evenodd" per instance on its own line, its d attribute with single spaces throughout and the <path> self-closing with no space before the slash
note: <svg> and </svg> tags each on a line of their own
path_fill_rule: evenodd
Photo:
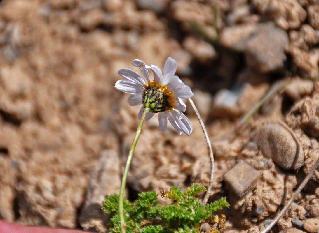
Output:
<svg viewBox="0 0 319 233">
<path fill-rule="evenodd" d="M 318 0 L 2 0 L 0 218 L 107 232 L 139 106 L 114 88 L 134 59 L 177 60 L 215 156 L 210 200 L 227 196 L 226 232 L 259 232 L 319 157 Z M 273 85 L 289 84 L 238 127 Z M 208 185 L 194 131 L 144 124 L 126 196 Z M 274 232 L 317 233 L 319 171 Z M 163 202 L 163 200 L 159 200 Z"/>
</svg>

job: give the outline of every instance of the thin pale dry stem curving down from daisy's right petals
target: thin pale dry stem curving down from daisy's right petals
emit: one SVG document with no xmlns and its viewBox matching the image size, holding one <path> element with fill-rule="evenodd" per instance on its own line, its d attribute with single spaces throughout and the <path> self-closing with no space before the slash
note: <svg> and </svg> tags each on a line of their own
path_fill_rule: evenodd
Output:
<svg viewBox="0 0 319 233">
<path fill-rule="evenodd" d="M 198 121 L 200 123 L 200 125 L 202 126 L 202 129 L 203 129 L 203 132 L 204 132 L 204 135 L 205 135 L 205 139 L 206 139 L 206 142 L 207 142 L 207 145 L 208 145 L 208 149 L 209 149 L 209 155 L 211 157 L 211 178 L 209 180 L 209 184 L 208 184 L 208 187 L 207 187 L 207 191 L 206 191 L 206 194 L 204 196 L 204 199 L 203 199 L 203 206 L 207 204 L 207 201 L 208 201 L 208 198 L 211 194 L 211 188 L 213 186 L 213 180 L 214 180 L 214 155 L 213 155 L 213 150 L 211 149 L 211 142 L 208 138 L 208 134 L 207 134 L 207 131 L 206 131 L 206 127 L 204 125 L 204 122 L 202 120 L 202 118 L 200 117 L 199 115 L 199 112 L 194 104 L 194 102 L 189 98 L 188 99 L 190 104 L 192 105 L 194 111 L 195 111 L 195 114 L 198 118 Z"/>
</svg>

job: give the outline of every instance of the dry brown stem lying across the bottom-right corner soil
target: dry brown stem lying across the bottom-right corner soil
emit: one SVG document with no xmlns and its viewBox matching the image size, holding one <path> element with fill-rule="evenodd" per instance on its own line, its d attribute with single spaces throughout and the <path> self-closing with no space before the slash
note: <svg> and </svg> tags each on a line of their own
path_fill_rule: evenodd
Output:
<svg viewBox="0 0 319 233">
<path fill-rule="evenodd" d="M 319 151 L 318 151 L 319 152 Z M 315 162 L 314 166 L 311 168 L 310 173 L 305 177 L 305 179 L 301 182 L 297 190 L 293 193 L 292 197 L 289 199 L 289 201 L 285 204 L 284 208 L 279 212 L 279 214 L 275 217 L 275 219 L 260 233 L 267 233 L 278 221 L 279 219 L 286 213 L 286 211 L 289 209 L 291 203 L 295 200 L 297 195 L 301 192 L 301 190 L 306 186 L 308 181 L 311 179 L 312 175 L 314 174 L 315 170 L 319 166 L 319 158 Z"/>
</svg>

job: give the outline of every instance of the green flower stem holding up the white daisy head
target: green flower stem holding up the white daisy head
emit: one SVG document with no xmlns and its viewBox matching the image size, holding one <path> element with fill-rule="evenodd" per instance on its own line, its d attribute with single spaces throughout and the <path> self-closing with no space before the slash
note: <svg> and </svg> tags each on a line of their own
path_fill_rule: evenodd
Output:
<svg viewBox="0 0 319 233">
<path fill-rule="evenodd" d="M 130 165 L 131 165 L 131 161 L 132 161 L 132 157 L 133 157 L 133 153 L 135 150 L 137 140 L 141 134 L 143 123 L 144 123 L 146 115 L 149 111 L 150 111 L 150 108 L 144 109 L 141 120 L 138 123 L 135 137 L 134 137 L 133 143 L 131 145 L 129 155 L 128 155 L 127 160 L 126 160 L 126 165 L 125 165 L 125 169 L 124 169 L 124 173 L 123 173 L 123 177 L 122 177 L 121 188 L 120 188 L 120 197 L 119 197 L 119 215 L 120 215 L 121 232 L 122 233 L 126 232 L 126 226 L 125 226 L 125 222 L 124 222 L 124 207 L 123 207 L 123 205 L 124 205 L 124 190 L 125 190 L 125 186 L 126 186 L 127 174 L 129 173 L 129 170 L 130 170 Z"/>
</svg>

